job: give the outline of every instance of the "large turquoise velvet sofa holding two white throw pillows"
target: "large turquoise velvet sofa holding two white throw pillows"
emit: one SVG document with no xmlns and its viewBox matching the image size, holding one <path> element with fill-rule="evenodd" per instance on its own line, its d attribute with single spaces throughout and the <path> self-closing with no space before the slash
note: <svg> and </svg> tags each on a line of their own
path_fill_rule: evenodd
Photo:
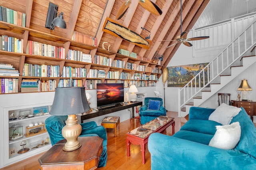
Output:
<svg viewBox="0 0 256 170">
<path fill-rule="evenodd" d="M 208 146 L 221 125 L 208 120 L 214 109 L 191 107 L 189 120 L 173 136 L 150 135 L 151 170 L 256 170 L 256 128 L 241 109 L 231 121 L 240 123 L 240 141 L 224 150 Z"/>
</svg>

